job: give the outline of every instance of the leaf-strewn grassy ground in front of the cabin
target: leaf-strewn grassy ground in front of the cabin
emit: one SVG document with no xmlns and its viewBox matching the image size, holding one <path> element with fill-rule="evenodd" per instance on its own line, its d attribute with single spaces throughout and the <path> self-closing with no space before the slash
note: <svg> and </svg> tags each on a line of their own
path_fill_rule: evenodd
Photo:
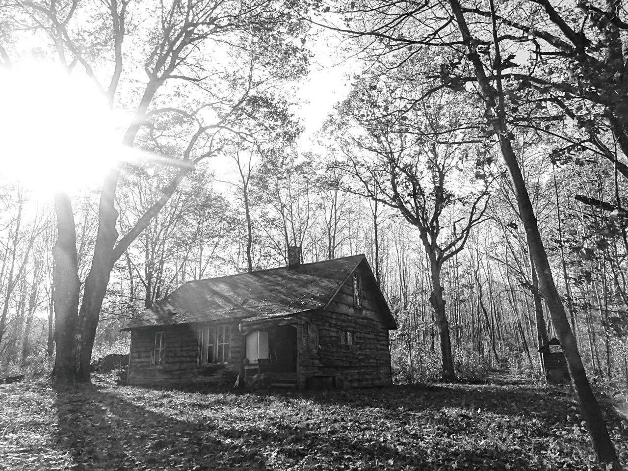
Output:
<svg viewBox="0 0 628 471">
<path fill-rule="evenodd" d="M 628 463 L 628 423 L 609 418 Z M 6 470 L 595 469 L 568 389 L 276 393 L 0 385 Z"/>
</svg>

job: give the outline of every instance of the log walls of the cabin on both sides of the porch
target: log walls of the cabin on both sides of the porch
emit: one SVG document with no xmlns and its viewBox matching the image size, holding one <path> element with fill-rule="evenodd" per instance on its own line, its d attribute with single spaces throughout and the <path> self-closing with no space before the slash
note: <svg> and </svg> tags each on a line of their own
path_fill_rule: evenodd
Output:
<svg viewBox="0 0 628 471">
<path fill-rule="evenodd" d="M 331 384 L 337 387 L 384 386 L 391 384 L 391 360 L 386 306 L 372 274 L 363 262 L 358 267 L 362 279 L 362 306 L 354 306 L 353 283 L 349 277 L 325 310 L 306 311 L 297 317 L 297 381 L 300 388 L 308 384 Z M 318 330 L 318 349 L 308 347 L 305 323 Z M 215 325 L 225 325 L 217 323 Z M 181 382 L 220 382 L 225 376 L 235 379 L 241 373 L 246 355 L 245 336 L 238 323 L 230 323 L 230 362 L 222 365 L 198 363 L 198 334 L 201 325 L 171 325 L 136 329 L 131 337 L 129 384 L 175 384 Z M 268 330 L 272 321 L 269 320 Z M 263 329 L 266 330 L 266 329 Z M 151 365 L 156 332 L 166 332 L 166 356 L 163 366 Z M 343 332 L 355 334 L 355 344 L 342 342 Z"/>
</svg>

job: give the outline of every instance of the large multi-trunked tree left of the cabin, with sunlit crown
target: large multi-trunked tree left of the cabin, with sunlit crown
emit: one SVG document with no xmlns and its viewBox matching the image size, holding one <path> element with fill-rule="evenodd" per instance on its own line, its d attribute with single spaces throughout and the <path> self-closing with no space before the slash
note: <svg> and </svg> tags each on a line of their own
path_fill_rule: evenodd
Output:
<svg viewBox="0 0 628 471">
<path fill-rule="evenodd" d="M 135 11 L 137 15 L 129 13 L 129 5 L 131 0 L 95 7 L 70 1 L 25 2 L 14 7 L 28 21 L 28 28 L 47 39 L 50 55 L 58 63 L 92 78 L 111 106 L 134 109 L 122 144 L 161 154 L 176 169 L 160 197 L 122 237 L 117 232 L 116 194 L 125 164 L 119 162 L 107 172 L 99 197 L 94 254 L 84 283 L 78 278 L 72 200 L 55 194 L 54 374 L 60 380 L 89 381 L 100 308 L 114 263 L 196 163 L 220 151 L 225 135 L 236 134 L 253 142 L 261 134 L 274 139 L 291 132 L 289 126 L 282 127 L 288 112 L 285 103 L 273 96 L 273 89 L 302 73 L 307 63 L 300 48 L 283 40 L 300 34 L 301 25 L 290 22 L 289 12 L 273 0 L 144 3 L 141 13 Z M 99 14 L 82 14 L 82 9 L 92 7 Z M 85 18 L 95 21 L 82 23 Z M 84 30 L 91 33 L 84 34 Z M 125 41 L 129 35 L 133 35 L 134 45 Z M 8 54 L 9 48 L 2 51 Z M 217 61 L 207 59 L 218 56 L 221 59 Z M 125 62 L 125 58 L 130 60 Z M 133 75 L 138 72 L 136 64 L 143 64 L 146 73 L 141 89 Z M 124 87 L 132 92 L 122 94 Z M 116 101 L 119 96 L 121 103 Z M 188 100 L 182 102 L 183 97 Z M 178 145 L 171 145 L 173 139 Z"/>
</svg>

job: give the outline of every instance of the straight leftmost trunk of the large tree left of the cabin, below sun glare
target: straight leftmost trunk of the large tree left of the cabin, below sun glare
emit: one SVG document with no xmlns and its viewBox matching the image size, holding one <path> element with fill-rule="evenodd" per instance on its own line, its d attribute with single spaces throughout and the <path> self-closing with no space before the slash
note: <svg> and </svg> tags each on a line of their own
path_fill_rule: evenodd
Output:
<svg viewBox="0 0 628 471">
<path fill-rule="evenodd" d="M 78 279 L 76 229 L 72 203 L 67 193 L 55 193 L 57 243 L 52 249 L 53 303 L 55 306 L 55 342 L 57 355 L 52 376 L 58 381 L 73 381 L 77 366 Z"/>
</svg>

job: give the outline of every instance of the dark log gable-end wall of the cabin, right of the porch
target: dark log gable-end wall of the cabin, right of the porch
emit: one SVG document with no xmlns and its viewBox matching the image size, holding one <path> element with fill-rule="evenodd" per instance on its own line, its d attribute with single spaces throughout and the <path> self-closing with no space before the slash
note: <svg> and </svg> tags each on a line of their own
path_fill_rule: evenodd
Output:
<svg viewBox="0 0 628 471">
<path fill-rule="evenodd" d="M 308 379 L 340 377 L 345 387 L 384 386 L 391 384 L 388 329 L 377 301 L 374 280 L 359 266 L 362 278 L 362 308 L 354 306 L 353 284 L 349 278 L 325 310 L 299 316 L 300 387 Z M 308 348 L 305 323 L 318 328 L 318 350 Z M 342 344 L 342 332 L 355 332 L 355 345 Z"/>
</svg>

